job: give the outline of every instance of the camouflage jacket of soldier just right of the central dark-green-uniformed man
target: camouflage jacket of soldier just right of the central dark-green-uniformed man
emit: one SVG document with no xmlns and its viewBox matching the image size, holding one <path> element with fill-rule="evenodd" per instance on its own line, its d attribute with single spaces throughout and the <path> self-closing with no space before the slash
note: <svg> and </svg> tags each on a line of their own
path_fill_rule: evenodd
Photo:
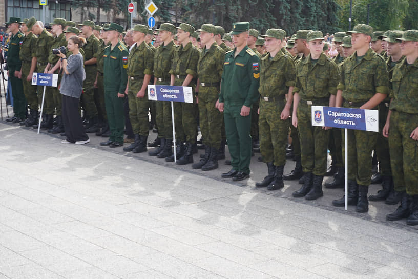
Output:
<svg viewBox="0 0 418 279">
<path fill-rule="evenodd" d="M 286 95 L 288 87 L 295 86 L 295 62 L 291 56 L 279 51 L 273 60 L 270 60 L 270 53 L 267 53 L 260 64 L 258 92 L 262 97 Z"/>
</svg>

